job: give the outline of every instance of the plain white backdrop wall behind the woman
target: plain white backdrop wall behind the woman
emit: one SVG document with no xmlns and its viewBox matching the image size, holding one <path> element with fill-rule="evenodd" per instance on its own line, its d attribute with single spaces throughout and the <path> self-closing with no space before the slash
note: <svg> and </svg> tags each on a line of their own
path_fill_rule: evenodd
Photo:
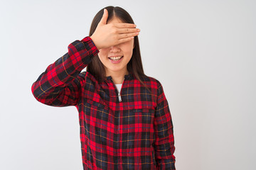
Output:
<svg viewBox="0 0 256 170">
<path fill-rule="evenodd" d="M 144 71 L 164 86 L 176 169 L 255 169 L 255 1 L 1 1 L 0 169 L 80 169 L 78 111 L 31 85 L 88 35 L 105 6 L 141 29 Z"/>
</svg>

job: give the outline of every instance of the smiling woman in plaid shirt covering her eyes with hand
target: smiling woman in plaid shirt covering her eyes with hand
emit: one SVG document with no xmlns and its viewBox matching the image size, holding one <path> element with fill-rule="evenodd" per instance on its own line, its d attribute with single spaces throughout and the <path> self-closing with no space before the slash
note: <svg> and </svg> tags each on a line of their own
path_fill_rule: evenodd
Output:
<svg viewBox="0 0 256 170">
<path fill-rule="evenodd" d="M 123 8 L 105 9 L 33 83 L 33 96 L 78 108 L 84 169 L 175 169 L 169 105 L 144 74 L 139 30 Z"/>
</svg>

